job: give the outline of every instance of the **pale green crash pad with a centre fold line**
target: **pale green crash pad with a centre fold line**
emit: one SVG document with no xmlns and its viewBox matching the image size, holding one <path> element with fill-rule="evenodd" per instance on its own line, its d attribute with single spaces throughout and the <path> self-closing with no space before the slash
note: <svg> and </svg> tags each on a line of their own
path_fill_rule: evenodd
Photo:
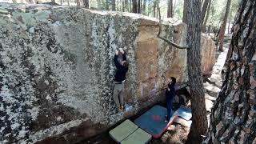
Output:
<svg viewBox="0 0 256 144">
<path fill-rule="evenodd" d="M 122 144 L 145 144 L 150 141 L 151 135 L 147 134 L 144 130 L 138 128 L 133 122 L 127 119 L 122 122 L 119 126 L 110 130 L 110 137 L 114 141 Z"/>
</svg>

